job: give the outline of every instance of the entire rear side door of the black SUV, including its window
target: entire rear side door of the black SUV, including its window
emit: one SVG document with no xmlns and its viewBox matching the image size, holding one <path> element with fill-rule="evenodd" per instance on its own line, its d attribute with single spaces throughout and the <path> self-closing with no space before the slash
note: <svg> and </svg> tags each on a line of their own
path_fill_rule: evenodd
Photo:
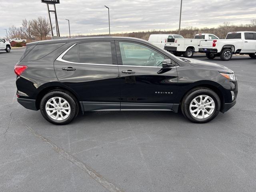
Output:
<svg viewBox="0 0 256 192">
<path fill-rule="evenodd" d="M 58 80 L 78 94 L 84 110 L 120 110 L 114 41 L 80 42 L 55 62 Z"/>
</svg>

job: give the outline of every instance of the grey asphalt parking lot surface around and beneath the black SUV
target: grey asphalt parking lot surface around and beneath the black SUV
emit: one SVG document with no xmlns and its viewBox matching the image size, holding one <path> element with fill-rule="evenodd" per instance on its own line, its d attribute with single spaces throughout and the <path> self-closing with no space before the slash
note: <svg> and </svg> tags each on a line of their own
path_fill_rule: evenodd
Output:
<svg viewBox="0 0 256 192">
<path fill-rule="evenodd" d="M 88 112 L 55 126 L 16 102 L 13 68 L 23 52 L 0 52 L 1 192 L 256 191 L 256 60 L 212 60 L 236 72 L 239 93 L 207 124 L 125 111 Z"/>
</svg>

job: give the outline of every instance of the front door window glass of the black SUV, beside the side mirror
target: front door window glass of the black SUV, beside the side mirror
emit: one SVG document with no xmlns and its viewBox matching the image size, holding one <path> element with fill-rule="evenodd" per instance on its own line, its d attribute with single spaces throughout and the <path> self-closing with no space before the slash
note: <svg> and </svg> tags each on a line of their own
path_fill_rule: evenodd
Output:
<svg viewBox="0 0 256 192">
<path fill-rule="evenodd" d="M 137 43 L 119 42 L 123 65 L 162 66 L 164 56 L 155 50 Z"/>
</svg>

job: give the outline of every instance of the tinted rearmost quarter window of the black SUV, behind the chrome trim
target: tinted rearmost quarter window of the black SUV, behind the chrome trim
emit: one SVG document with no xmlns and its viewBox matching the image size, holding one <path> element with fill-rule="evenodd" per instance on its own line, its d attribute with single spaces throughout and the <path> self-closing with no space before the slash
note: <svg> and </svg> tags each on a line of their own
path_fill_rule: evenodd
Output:
<svg viewBox="0 0 256 192">
<path fill-rule="evenodd" d="M 22 61 L 34 61 L 34 60 L 41 59 L 64 44 L 65 43 L 36 45 L 34 48 L 32 48 L 30 52 L 28 52 L 26 56 L 24 56 Z"/>
</svg>

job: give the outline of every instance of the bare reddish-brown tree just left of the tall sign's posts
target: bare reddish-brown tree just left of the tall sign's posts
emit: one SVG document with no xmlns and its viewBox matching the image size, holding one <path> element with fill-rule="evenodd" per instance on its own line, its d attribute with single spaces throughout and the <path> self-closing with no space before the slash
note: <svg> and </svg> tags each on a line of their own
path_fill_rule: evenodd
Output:
<svg viewBox="0 0 256 192">
<path fill-rule="evenodd" d="M 43 17 L 32 20 L 32 34 L 41 40 L 50 35 L 50 22 Z"/>
</svg>

